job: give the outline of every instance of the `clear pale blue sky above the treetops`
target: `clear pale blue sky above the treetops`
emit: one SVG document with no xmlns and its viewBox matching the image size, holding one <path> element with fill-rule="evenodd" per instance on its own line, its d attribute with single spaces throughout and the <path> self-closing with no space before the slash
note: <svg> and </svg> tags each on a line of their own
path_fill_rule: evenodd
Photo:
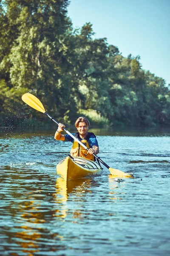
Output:
<svg viewBox="0 0 170 256">
<path fill-rule="evenodd" d="M 142 68 L 170 84 L 170 0 L 71 0 L 73 26 L 93 24 L 124 57 L 140 55 Z"/>
</svg>

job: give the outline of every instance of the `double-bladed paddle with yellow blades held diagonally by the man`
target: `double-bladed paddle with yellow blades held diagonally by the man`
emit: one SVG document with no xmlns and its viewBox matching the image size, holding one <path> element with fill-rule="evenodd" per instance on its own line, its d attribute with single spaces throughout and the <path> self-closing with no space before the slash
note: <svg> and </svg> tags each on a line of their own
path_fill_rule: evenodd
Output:
<svg viewBox="0 0 170 256">
<path fill-rule="evenodd" d="M 37 97 L 35 97 L 34 95 L 32 95 L 31 93 L 25 93 L 22 96 L 22 100 L 23 102 L 25 102 L 27 105 L 29 105 L 30 107 L 36 109 L 37 111 L 40 111 L 42 113 L 44 113 L 46 116 L 48 116 L 53 122 L 55 122 L 57 125 L 59 124 L 59 122 L 57 122 L 57 120 L 54 119 L 54 117 L 50 116 L 44 109 L 42 103 L 40 102 L 39 99 L 37 99 Z M 69 134 L 75 141 L 77 141 L 80 145 L 82 145 L 83 148 L 85 148 L 86 150 L 89 150 L 88 147 L 86 147 L 81 141 L 79 141 L 76 137 L 74 137 L 73 134 L 71 134 L 68 130 L 66 130 L 65 128 L 63 128 L 63 130 Z M 99 161 L 101 162 L 106 168 L 109 169 L 109 171 L 111 172 L 112 175 L 117 176 L 117 177 L 132 177 L 132 175 L 130 175 L 129 173 L 125 173 L 122 171 L 119 171 L 117 169 L 113 169 L 111 167 L 109 167 L 105 162 L 103 162 L 102 159 L 100 159 L 100 157 L 97 157 L 96 154 L 93 154 L 93 156 Z"/>
</svg>

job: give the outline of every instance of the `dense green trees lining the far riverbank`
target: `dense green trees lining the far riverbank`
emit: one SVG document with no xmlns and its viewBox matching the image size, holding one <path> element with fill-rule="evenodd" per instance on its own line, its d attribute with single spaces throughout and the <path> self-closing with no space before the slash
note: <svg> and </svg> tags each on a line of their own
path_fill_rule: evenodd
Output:
<svg viewBox="0 0 170 256">
<path fill-rule="evenodd" d="M 125 58 L 106 38 L 94 38 L 91 23 L 73 29 L 68 4 L 1 1 L 0 125 L 44 120 L 22 102 L 26 92 L 67 124 L 85 115 L 98 125 L 169 125 L 164 79 L 142 70 L 139 56 Z"/>
</svg>

